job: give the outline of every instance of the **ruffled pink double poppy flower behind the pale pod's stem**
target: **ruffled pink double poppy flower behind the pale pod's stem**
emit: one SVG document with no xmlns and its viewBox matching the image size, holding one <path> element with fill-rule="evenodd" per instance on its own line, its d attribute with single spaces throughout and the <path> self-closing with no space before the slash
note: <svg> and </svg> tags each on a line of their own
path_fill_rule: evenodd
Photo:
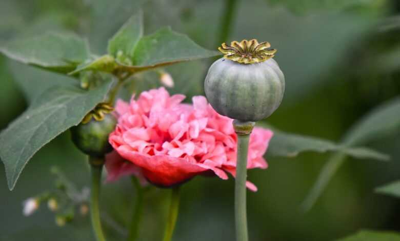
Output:
<svg viewBox="0 0 400 241">
<path fill-rule="evenodd" d="M 118 100 L 118 124 L 110 134 L 110 144 L 158 186 L 169 187 L 210 173 L 222 179 L 228 179 L 226 172 L 234 176 L 237 136 L 232 119 L 216 113 L 204 96 L 193 97 L 193 105 L 182 104 L 184 98 L 159 88 L 143 92 L 137 101 L 132 97 L 129 104 Z M 254 128 L 248 169 L 267 168 L 263 155 L 272 135 L 270 130 Z M 134 174 L 132 166 L 110 168 L 116 163 L 114 157 L 109 155 L 106 160 L 109 179 Z M 250 182 L 247 187 L 257 190 Z"/>
</svg>

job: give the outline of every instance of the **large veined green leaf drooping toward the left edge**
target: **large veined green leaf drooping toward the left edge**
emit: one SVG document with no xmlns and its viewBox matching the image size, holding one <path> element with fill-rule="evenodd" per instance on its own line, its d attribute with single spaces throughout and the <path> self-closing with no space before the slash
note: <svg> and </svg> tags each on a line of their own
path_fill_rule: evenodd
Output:
<svg viewBox="0 0 400 241">
<path fill-rule="evenodd" d="M 79 124 L 98 103 L 104 101 L 111 81 L 86 91 L 77 87 L 54 87 L 0 133 L 2 159 L 12 190 L 29 159 L 57 135 Z"/>
</svg>

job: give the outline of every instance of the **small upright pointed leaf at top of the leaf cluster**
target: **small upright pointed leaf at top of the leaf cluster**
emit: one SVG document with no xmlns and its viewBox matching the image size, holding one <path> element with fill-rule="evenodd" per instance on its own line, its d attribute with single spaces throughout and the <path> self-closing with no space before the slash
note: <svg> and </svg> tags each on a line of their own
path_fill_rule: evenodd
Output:
<svg viewBox="0 0 400 241">
<path fill-rule="evenodd" d="M 143 37 L 143 12 L 131 16 L 121 29 L 108 42 L 108 53 L 117 56 L 118 52 L 132 57 L 135 47 Z"/>
</svg>

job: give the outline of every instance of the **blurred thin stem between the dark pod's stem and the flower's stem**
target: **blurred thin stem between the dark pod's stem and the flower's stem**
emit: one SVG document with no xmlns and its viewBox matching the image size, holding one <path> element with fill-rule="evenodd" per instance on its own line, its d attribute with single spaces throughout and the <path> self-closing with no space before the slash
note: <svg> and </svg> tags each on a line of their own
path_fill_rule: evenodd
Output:
<svg viewBox="0 0 400 241">
<path fill-rule="evenodd" d="M 143 214 L 143 196 L 144 190 L 139 183 L 139 180 L 132 176 L 132 184 L 136 190 L 136 200 L 135 200 L 135 207 L 133 210 L 133 215 L 129 227 L 129 234 L 128 234 L 128 241 L 136 241 L 139 234 L 139 223 L 142 219 Z"/>
</svg>

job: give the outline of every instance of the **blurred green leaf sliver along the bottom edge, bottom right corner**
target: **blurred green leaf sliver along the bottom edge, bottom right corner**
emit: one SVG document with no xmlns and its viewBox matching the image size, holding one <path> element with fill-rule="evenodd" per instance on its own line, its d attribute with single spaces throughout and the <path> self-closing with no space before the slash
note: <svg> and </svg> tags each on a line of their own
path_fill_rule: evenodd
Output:
<svg viewBox="0 0 400 241">
<path fill-rule="evenodd" d="M 400 241 L 400 234 L 389 231 L 361 230 L 356 234 L 336 241 Z"/>
</svg>

